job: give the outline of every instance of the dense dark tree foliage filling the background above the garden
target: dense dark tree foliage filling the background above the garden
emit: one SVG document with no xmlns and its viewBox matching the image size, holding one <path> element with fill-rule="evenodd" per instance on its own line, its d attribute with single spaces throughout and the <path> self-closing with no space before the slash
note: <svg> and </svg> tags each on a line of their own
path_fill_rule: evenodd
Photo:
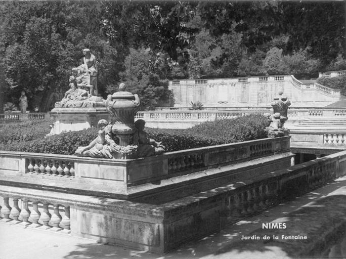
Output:
<svg viewBox="0 0 346 259">
<path fill-rule="evenodd" d="M 294 74 L 346 64 L 342 1 L 3 1 L 0 103 L 47 111 L 83 48 L 100 62 L 104 97 L 125 81 L 144 107 L 167 79 Z M 336 58 L 339 57 L 338 60 Z M 5 96 L 4 95 L 4 96 Z M 0 104 L 1 106 L 1 104 Z M 1 107 L 0 107 L 1 109 Z"/>
</svg>

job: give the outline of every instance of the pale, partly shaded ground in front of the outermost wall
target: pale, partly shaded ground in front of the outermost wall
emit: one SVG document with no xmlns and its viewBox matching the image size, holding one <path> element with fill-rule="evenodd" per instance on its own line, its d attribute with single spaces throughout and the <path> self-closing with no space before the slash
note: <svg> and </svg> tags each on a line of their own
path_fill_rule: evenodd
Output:
<svg viewBox="0 0 346 259">
<path fill-rule="evenodd" d="M 286 229 L 262 229 L 262 223 L 286 223 Z M 60 258 L 343 258 L 342 235 L 346 225 L 346 177 L 293 201 L 226 227 L 196 242 L 166 254 L 154 254 L 61 233 L 0 224 L 0 259 Z M 335 230 L 340 230 L 334 235 Z M 263 240 L 263 236 L 280 240 Z M 306 240 L 285 240 L 281 236 L 307 236 Z M 258 236 L 260 240 L 241 240 Z M 341 241 L 335 241 L 341 240 Z M 334 245 L 336 244 L 336 245 Z M 334 245 L 334 246 L 333 246 Z M 328 247 L 332 247 L 329 249 Z M 313 250 L 314 252 L 311 252 Z M 310 256 L 310 257 L 309 257 Z"/>
</svg>

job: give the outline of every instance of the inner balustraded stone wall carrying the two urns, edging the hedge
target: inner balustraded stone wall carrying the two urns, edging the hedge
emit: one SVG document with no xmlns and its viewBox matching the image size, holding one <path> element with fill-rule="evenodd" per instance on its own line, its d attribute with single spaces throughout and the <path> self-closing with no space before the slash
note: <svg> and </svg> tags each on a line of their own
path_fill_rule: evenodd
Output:
<svg viewBox="0 0 346 259">
<path fill-rule="evenodd" d="M 291 155 L 289 137 L 202 147 L 139 159 L 0 151 L 0 183 L 126 198 L 131 186 L 280 153 Z M 288 156 L 278 159 L 286 161 L 290 159 Z M 285 164 L 287 162 L 280 166 Z"/>
</svg>

